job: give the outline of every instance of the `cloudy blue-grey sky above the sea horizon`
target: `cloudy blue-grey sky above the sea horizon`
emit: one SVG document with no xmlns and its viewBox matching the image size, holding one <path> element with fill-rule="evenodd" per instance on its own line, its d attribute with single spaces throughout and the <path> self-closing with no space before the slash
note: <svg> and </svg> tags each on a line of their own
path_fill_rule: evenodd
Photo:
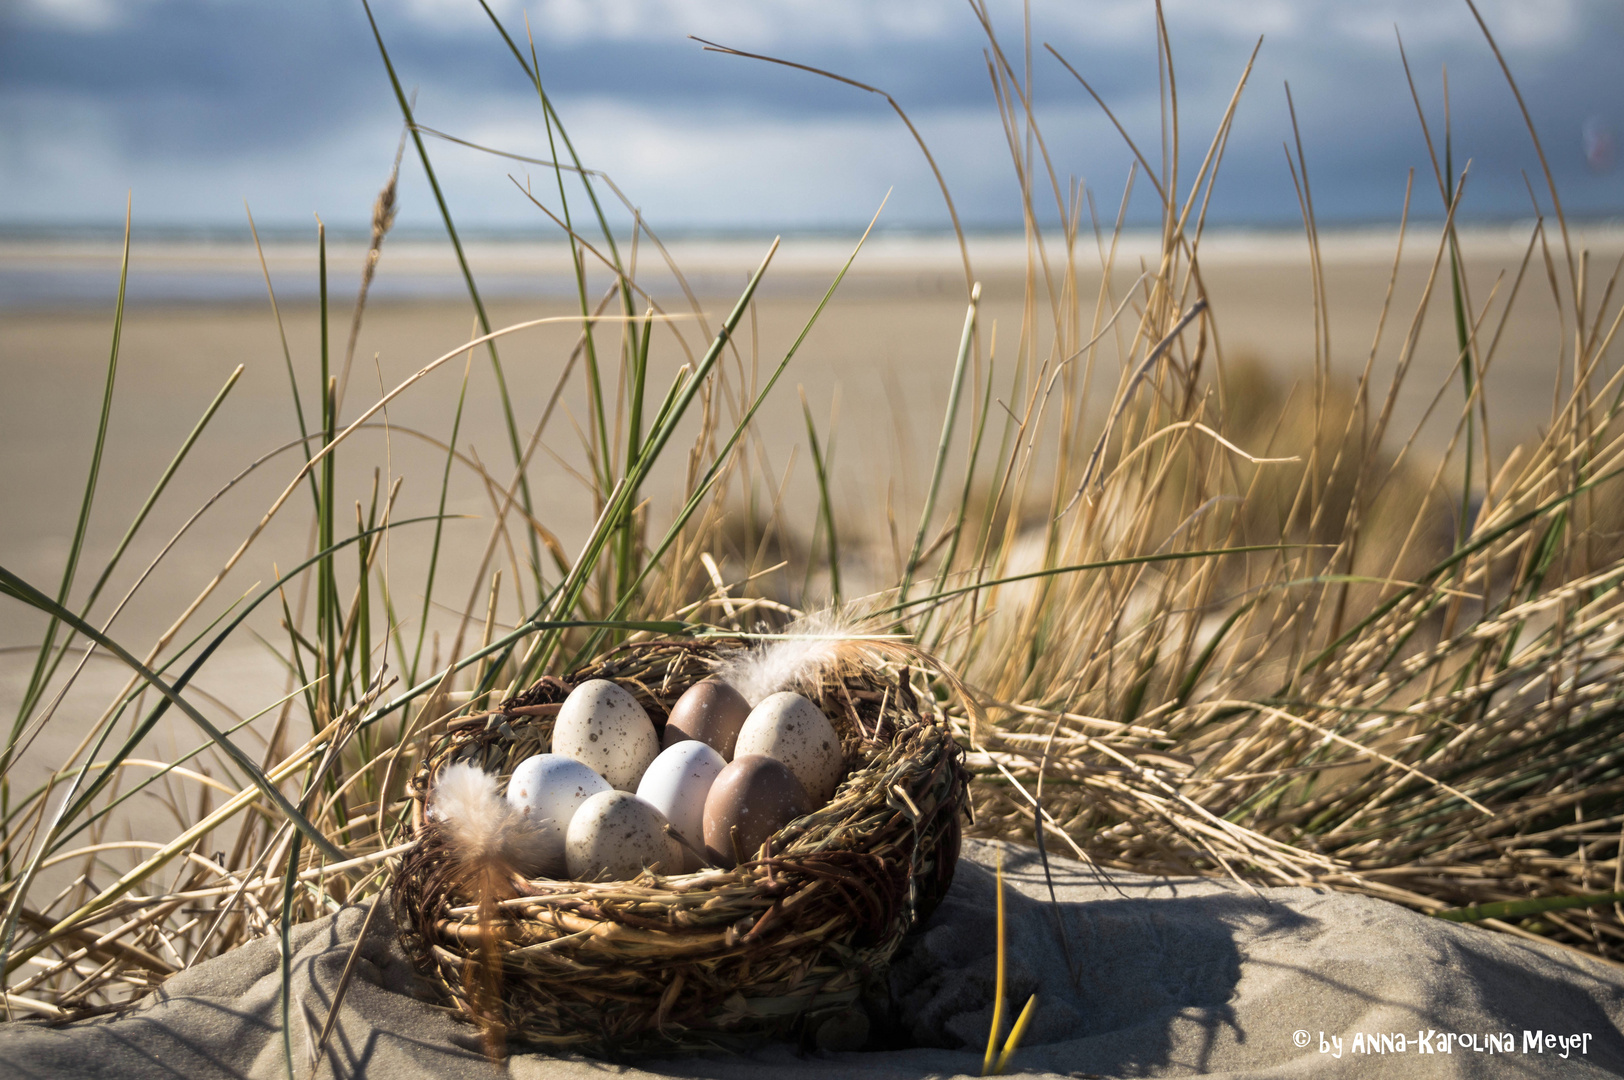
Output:
<svg viewBox="0 0 1624 1080">
<path fill-rule="evenodd" d="M 609 172 L 667 231 L 853 229 L 887 190 L 893 227 L 947 226 L 918 148 L 885 101 L 801 71 L 705 52 L 690 34 L 830 68 L 890 91 L 935 153 L 971 227 L 1018 226 L 986 36 L 963 0 L 500 0 L 523 34 L 586 164 Z M 1624 214 L 1624 6 L 1616 0 L 1479 0 L 1575 216 Z M 476 0 L 374 0 L 419 120 L 547 156 L 525 73 Z M 1160 167 L 1150 0 L 1033 0 L 1038 122 L 1062 184 L 1085 182 L 1111 214 L 1130 156 L 1101 110 L 1044 52 L 1051 44 L 1117 112 Z M 1021 63 L 1018 3 L 991 3 Z M 1440 136 L 1449 68 L 1463 214 L 1531 214 L 1538 159 L 1463 0 L 1168 0 L 1186 177 L 1246 63 L 1213 216 L 1291 224 L 1285 83 L 1325 222 L 1397 218 L 1418 169 L 1416 211 L 1440 200 L 1395 24 Z M 320 213 L 364 227 L 400 136 L 400 112 L 361 0 L 0 0 L 0 229 L 96 227 L 133 190 L 148 227 L 237 229 Z M 471 229 L 536 232 L 513 187 L 526 166 L 430 141 L 453 211 Z M 408 158 L 401 221 L 437 221 Z M 533 171 L 538 192 L 552 179 Z M 1140 185 L 1145 190 L 1147 185 Z M 1536 190 L 1544 198 L 1543 185 Z M 547 200 L 554 201 L 554 200 Z M 1047 197 L 1052 205 L 1052 195 Z M 1135 213 L 1148 210 L 1143 203 Z"/>
</svg>

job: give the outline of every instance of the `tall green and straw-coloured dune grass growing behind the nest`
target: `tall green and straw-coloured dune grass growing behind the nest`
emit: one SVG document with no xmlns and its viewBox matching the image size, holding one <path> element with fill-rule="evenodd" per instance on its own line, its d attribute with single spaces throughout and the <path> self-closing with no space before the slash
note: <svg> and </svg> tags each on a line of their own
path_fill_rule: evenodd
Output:
<svg viewBox="0 0 1624 1080">
<path fill-rule="evenodd" d="M 1301 422 L 1286 424 L 1260 413 L 1257 395 L 1242 391 L 1246 365 L 1226 361 L 1200 260 L 1250 62 L 1194 174 L 1181 171 L 1176 68 L 1163 28 L 1169 154 L 1153 169 L 1134 146 L 1129 179 L 1155 190 L 1161 242 L 1153 261 L 1130 268 L 1121 265 L 1121 213 L 1099 222 L 1093 195 L 1056 172 L 1036 123 L 1030 65 L 1070 65 L 1052 49 L 1012 58 L 978 8 L 1030 239 L 1025 322 L 994 349 L 963 245 L 966 317 L 927 494 L 918 525 L 909 528 L 909 515 L 898 526 L 911 541 L 895 583 L 859 598 L 843 568 L 861 554 L 861 534 L 841 528 L 854 512 L 831 499 L 827 477 L 833 426 L 820 438 L 802 404 L 818 533 L 812 542 L 776 544 L 793 562 L 784 573 L 773 573 L 763 552 L 791 526 L 773 508 L 755 510 L 773 505 L 762 490 L 773 477 L 760 476 L 750 456 L 760 404 L 778 391 L 851 261 L 830 268 L 828 291 L 781 357 L 755 356 L 739 333 L 776 244 L 711 328 L 648 222 L 575 156 L 525 36 L 487 15 L 534 88 L 555 151 L 564 149 L 562 161 L 542 162 L 552 188 L 526 190 L 564 229 L 575 260 L 578 315 L 564 322 L 578 335 L 559 383 L 546 403 L 525 403 L 495 380 L 512 458 L 505 471 L 456 450 L 458 396 L 450 435 L 437 443 L 445 460 L 434 515 L 396 518 L 400 481 L 385 482 L 382 469 L 370 489 L 343 489 L 338 456 L 361 453 L 346 443 L 387 424 L 390 401 L 466 395 L 466 374 L 455 390 L 430 375 L 455 372 L 458 361 L 466 370 L 476 351 L 500 374 L 503 338 L 560 322 L 492 326 L 435 185 L 474 333 L 451 352 L 424 357 L 416 375 L 365 408 L 346 409 L 356 328 L 391 221 L 391 175 L 343 374 L 330 364 L 323 247 L 318 382 L 299 385 L 289 361 L 302 438 L 287 448 L 300 448 L 297 466 L 219 573 L 141 651 L 119 640 L 123 603 L 109 607 L 102 586 L 185 458 L 209 438 L 229 451 L 205 429 L 235 375 L 83 590 L 83 538 L 117 408 L 120 278 L 93 466 L 62 583 L 50 593 L 0 575 L 0 591 L 49 617 L 0 758 L 0 970 L 10 1015 L 117 1009 L 247 939 L 286 940 L 302 919 L 375 901 L 409 843 L 404 784 L 455 716 L 492 708 L 536 677 L 630 638 L 771 632 L 831 603 L 875 632 L 911 635 L 968 687 L 971 703 L 940 672 L 911 672 L 921 692 L 944 702 L 970 750 L 978 835 L 1030 838 L 1108 867 L 1328 885 L 1601 957 L 1619 948 L 1624 372 L 1608 356 L 1624 309 L 1616 278 L 1588 279 L 1554 187 L 1546 195 L 1556 231 L 1540 216 L 1515 278 L 1475 300 L 1455 227 L 1466 174 L 1455 169 L 1445 120 L 1442 154 L 1431 162 L 1445 222 L 1423 240 L 1427 283 L 1411 297 L 1390 286 L 1393 328 L 1384 317 L 1387 336 L 1371 343 L 1356 385 L 1343 387 L 1330 375 L 1312 162 L 1298 141 L 1291 169 L 1319 331 L 1307 404 L 1296 409 Z M 409 141 L 432 177 L 424 135 L 442 133 L 414 123 L 385 28 L 374 23 L 374 31 Z M 1486 26 L 1484 36 L 1492 47 Z M 1078 93 L 1093 94 L 1082 75 L 1078 83 Z M 1436 119 L 1421 122 L 1431 145 Z M 630 234 L 611 226 L 604 193 L 625 208 Z M 581 200 L 590 214 L 577 213 Z M 1393 281 L 1397 248 L 1418 232 L 1408 213 L 1406 201 Z M 861 240 L 853 248 L 856 260 Z M 638 283 L 640 250 L 672 271 L 676 296 Z M 1093 296 L 1082 287 L 1085 270 L 1103 271 Z M 590 291 L 606 274 L 604 291 Z M 1544 434 L 1496 461 L 1483 374 L 1531 289 L 1549 291 L 1567 328 L 1553 365 L 1553 413 Z M 1431 422 L 1452 438 L 1447 453 L 1423 461 L 1413 437 L 1390 424 L 1400 395 L 1427 391 L 1408 385 L 1406 374 L 1434 292 L 1455 330 L 1458 391 L 1439 390 Z M 651 382 L 656 349 L 687 361 L 671 385 Z M 1372 378 L 1377 354 L 1398 357 L 1385 387 Z M 580 451 L 598 515 L 575 554 L 564 551 L 526 481 L 564 398 L 586 417 Z M 1104 409 L 1103 424 L 1091 406 Z M 651 495 L 650 476 L 672 456 L 685 461 L 679 489 Z M 283 468 L 270 456 L 244 474 Z M 479 565 L 455 568 L 473 581 L 466 601 L 453 604 L 455 633 L 425 651 L 430 611 L 451 604 L 440 529 L 453 486 L 464 482 L 492 507 L 489 538 Z M 312 539 L 304 552 L 278 554 L 291 570 L 235 603 L 216 596 L 273 518 L 300 513 Z M 388 538 L 430 551 L 422 581 L 390 580 Z M 141 581 L 164 570 L 172 544 Z M 497 620 L 503 590 L 525 612 L 507 630 Z M 421 606 L 403 611 L 409 596 Z M 188 697 L 192 682 L 266 604 L 283 617 L 286 637 L 274 648 L 287 695 L 258 718 L 218 723 Z M 80 638 L 132 672 L 94 718 L 58 710 L 89 656 Z M 76 654 L 76 666 L 65 664 Z M 143 747 L 171 710 L 200 734 L 166 763 Z M 19 780 L 13 765 L 44 724 L 73 726 L 81 742 L 44 778 Z M 248 736 L 261 749 L 250 750 Z M 162 845 L 119 840 L 127 815 L 154 797 L 184 827 Z M 989 1043 L 997 1072 L 992 1052 Z"/>
</svg>

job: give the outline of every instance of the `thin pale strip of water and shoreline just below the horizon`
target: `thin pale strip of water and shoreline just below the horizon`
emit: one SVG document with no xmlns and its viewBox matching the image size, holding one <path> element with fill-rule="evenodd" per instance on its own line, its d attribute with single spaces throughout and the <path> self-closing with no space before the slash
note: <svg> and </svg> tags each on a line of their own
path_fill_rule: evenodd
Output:
<svg viewBox="0 0 1624 1080">
<path fill-rule="evenodd" d="M 1431 260 L 1437 222 L 1411 222 L 1405 260 Z M 1471 224 L 1460 229 L 1462 245 L 1475 257 L 1520 260 L 1533 235 L 1533 221 Z M 1397 224 L 1320 232 L 1320 258 L 1333 265 L 1390 265 Z M 1585 222 L 1570 229 L 1577 247 L 1624 247 L 1624 222 Z M 1559 244 L 1554 222 L 1548 235 Z M 781 294 L 822 292 L 844 263 L 853 235 L 786 234 L 765 287 Z M 762 260 L 770 235 L 680 235 L 666 248 L 698 294 L 731 294 Z M 984 281 L 1025 274 L 1028 245 L 1018 232 L 978 232 L 966 237 L 974 274 Z M 339 237 L 328 244 L 330 296 L 348 299 L 365 255 L 365 239 Z M 1104 237 L 1109 245 L 1109 235 Z M 1153 231 L 1124 231 L 1117 240 L 1119 273 L 1137 268 L 1160 247 Z M 482 294 L 490 299 L 565 299 L 575 294 L 568 248 L 560 240 L 534 237 L 464 240 Z M 1064 257 L 1047 237 L 1049 261 Z M 1208 229 L 1202 239 L 1207 266 L 1307 265 L 1301 229 Z M 110 304 L 117 294 L 122 240 L 114 235 L 10 235 L 0 232 L 0 309 L 80 307 Z M 630 244 L 620 245 L 622 258 Z M 606 276 L 590 257 L 588 274 Z M 1096 239 L 1078 239 L 1078 260 L 1088 273 L 1101 263 Z M 317 297 L 317 247 L 310 239 L 279 235 L 265 244 L 265 261 L 278 299 Z M 638 248 L 638 278 L 651 291 L 676 287 L 663 257 L 646 240 Z M 885 232 L 869 239 L 853 274 L 877 287 L 939 292 L 963 287 L 963 261 L 952 234 Z M 464 284 L 450 244 L 440 235 L 393 235 L 385 242 L 374 297 L 378 300 L 455 300 Z M 128 300 L 132 304 L 240 304 L 265 299 L 265 276 L 253 244 L 245 239 L 190 237 L 132 240 Z"/>
</svg>

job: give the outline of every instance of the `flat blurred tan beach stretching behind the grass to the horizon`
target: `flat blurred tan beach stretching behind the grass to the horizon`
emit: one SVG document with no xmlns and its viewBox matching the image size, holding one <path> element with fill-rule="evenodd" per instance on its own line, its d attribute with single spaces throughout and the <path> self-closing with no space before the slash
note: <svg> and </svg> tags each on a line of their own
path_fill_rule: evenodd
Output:
<svg viewBox="0 0 1624 1080">
<path fill-rule="evenodd" d="M 1501 335 L 1488 377 L 1491 442 L 1497 455 L 1535 435 L 1548 421 L 1556 377 L 1553 362 L 1561 351 L 1561 335 L 1572 333 L 1556 318 L 1538 255 L 1522 283 L 1512 318 L 1499 330 L 1502 299 L 1518 271 L 1528 237 L 1530 231 L 1522 226 L 1463 234 L 1473 304 L 1479 310 L 1488 305 L 1479 333 Z M 1624 232 L 1598 231 L 1579 234 L 1579 239 L 1590 245 L 1593 266 L 1609 266 L 1624 252 Z M 1371 356 L 1395 240 L 1393 229 L 1322 239 L 1325 294 L 1330 299 L 1328 362 L 1333 377 L 1346 385 L 1358 378 Z M 737 356 L 728 361 L 736 377 L 742 370 L 745 380 L 750 372 L 762 378 L 783 357 L 849 253 L 851 242 L 827 237 L 788 237 L 783 242 L 773 271 L 736 336 Z M 767 239 L 682 240 L 671 245 L 671 257 L 690 274 L 690 287 L 698 292 L 711 326 L 731 307 L 767 245 Z M 1140 260 L 1151 250 L 1153 237 L 1124 237 L 1116 257 L 1116 297 L 1125 296 L 1138 276 Z M 1298 387 L 1298 398 L 1283 398 L 1288 408 L 1302 406 L 1306 398 L 1301 393 L 1314 380 L 1315 331 L 1307 255 L 1307 244 L 1296 234 L 1215 234 L 1202 247 L 1203 283 L 1212 297 L 1223 361 L 1229 365 L 1260 365 L 1280 395 Z M 1377 391 L 1387 387 L 1436 255 L 1436 234 L 1427 227 L 1413 227 L 1376 352 L 1372 385 Z M 330 250 L 335 365 L 349 328 L 361 257 L 362 247 L 352 242 L 335 244 Z M 986 341 L 994 348 L 994 409 L 1000 411 L 994 419 L 1002 422 L 1004 406 L 1023 408 L 1021 398 L 1012 398 L 1010 390 L 1020 348 L 1015 338 L 1021 325 L 1026 247 L 1018 237 L 978 237 L 973 239 L 971 257 L 984 283 L 981 318 Z M 469 258 L 476 273 L 490 283 L 489 313 L 494 325 L 578 313 L 575 302 L 564 294 L 568 263 L 560 248 L 474 242 Z M 650 260 L 653 255 L 645 248 L 638 258 Z M 0 453 L 10 466 L 0 476 L 0 505 L 6 507 L 6 513 L 0 515 L 0 564 L 47 591 L 60 580 L 83 494 L 106 375 L 117 260 L 117 244 L 102 240 L 49 245 L 13 240 L 0 245 L 0 268 L 5 281 L 11 283 L 8 302 L 0 307 L 0 382 L 6 387 L 6 393 L 0 395 Z M 312 302 L 313 245 L 274 244 L 268 248 L 268 263 L 279 291 L 287 348 L 304 388 L 304 409 L 310 416 L 320 341 L 318 309 Z M 1083 296 L 1098 291 L 1098 265 L 1099 257 L 1090 240 L 1088 253 L 1078 255 L 1078 266 L 1091 268 L 1078 274 Z M 1059 263 L 1052 261 L 1051 270 L 1057 273 Z M 18 279 L 44 283 L 39 287 L 45 296 L 24 294 L 15 286 Z M 656 283 L 650 289 L 667 310 L 680 310 L 674 279 L 654 271 L 648 271 L 646 279 Z M 200 451 L 182 466 L 154 507 L 99 611 L 112 611 L 115 601 L 107 598 L 122 598 L 198 507 L 245 466 L 281 450 L 198 520 L 120 612 L 114 624 L 115 637 L 135 646 L 169 627 L 214 577 L 294 476 L 299 461 L 297 450 L 291 447 L 297 421 L 281 338 L 252 245 L 138 242 L 132 252 L 130 281 L 107 456 L 84 567 L 99 572 L 209 400 L 235 365 L 242 364 L 244 374 L 200 442 Z M 393 388 L 469 338 L 474 317 L 466 299 L 455 294 L 456 284 L 456 268 L 445 244 L 408 240 L 385 247 L 378 286 L 356 351 L 344 419 L 374 403 L 382 387 Z M 99 296 L 93 296 L 96 292 Z M 1103 312 L 1101 320 L 1108 313 Z M 802 536 L 810 533 L 817 497 L 797 387 L 804 387 L 820 440 L 827 443 L 833 438 L 831 490 L 857 586 L 895 580 L 890 518 L 905 523 L 918 518 L 963 317 L 963 266 L 950 237 L 877 237 L 763 406 L 758 424 L 762 438 L 750 456 L 758 497 L 771 500 L 781 492 L 784 516 Z M 614 326 L 601 328 L 603 348 L 612 352 L 617 333 Z M 684 333 L 690 349 L 695 343 L 703 348 L 698 326 L 690 323 Z M 525 434 L 552 395 L 577 335 L 578 325 L 565 322 L 520 331 L 500 343 L 508 390 Z M 1036 356 L 1043 362 L 1047 346 L 1039 346 Z M 674 336 L 656 336 L 650 361 L 653 383 L 667 385 L 687 359 Z M 341 500 L 367 503 L 377 469 L 385 489 L 391 479 L 404 477 L 396 518 L 434 513 L 445 458 L 443 450 L 424 435 L 443 440 L 450 434 L 464 370 L 469 390 L 458 448 L 474 455 L 507 482 L 512 451 L 490 362 L 479 352 L 471 362 L 456 357 L 393 401 L 387 413 L 390 430 L 383 429 L 380 416 L 375 429 L 356 435 L 339 458 Z M 1106 408 L 1119 374 L 1114 361 L 1103 361 L 1095 372 L 1093 416 Z M 1410 434 L 1434 393 L 1455 378 L 1453 330 L 1445 281 L 1440 279 L 1418 336 L 1410 382 L 1397 403 L 1390 445 L 1397 447 Z M 737 385 L 739 380 L 734 382 Z M 1436 456 L 1447 445 L 1458 409 L 1457 385 L 1444 391 L 1437 414 L 1418 440 L 1421 460 Z M 538 516 L 557 533 L 567 551 L 580 544 L 594 513 L 575 473 L 583 464 L 581 432 L 586 426 L 585 396 L 577 377 L 560 396 L 542 438 L 544 450 L 538 451 L 531 468 Z M 961 461 L 963 445 L 960 442 L 955 448 L 955 461 Z M 654 521 L 672 512 L 667 492 L 677 481 L 676 468 L 676 460 L 663 463 L 663 471 L 650 484 Z M 482 486 L 466 482 L 471 476 L 461 479 L 464 482 L 453 482 L 447 510 L 468 516 L 447 525 L 437 590 L 437 601 L 455 611 L 489 583 L 473 580 L 473 570 L 489 539 L 490 499 Z M 273 580 L 274 568 L 297 562 L 309 542 L 305 516 L 299 508 L 299 513 L 284 512 L 274 518 L 200 617 L 213 619 L 257 583 Z M 905 525 L 903 531 L 908 529 Z M 391 580 L 422 580 L 429 539 L 427 525 L 406 526 L 393 534 L 387 554 Z M 866 562 L 872 565 L 872 573 L 864 573 Z M 499 552 L 497 564 L 507 565 L 505 554 Z M 88 577 L 81 573 L 81 590 L 88 588 Z M 414 609 L 421 596 L 400 596 L 396 601 Z M 513 617 L 515 611 L 516 604 L 507 603 L 503 619 Z M 250 625 L 274 640 L 278 619 L 278 612 L 266 606 Z M 37 625 L 37 619 L 21 606 L 8 607 L 6 632 L 0 642 L 11 646 L 0 661 L 3 708 L 15 706 L 32 659 L 28 648 L 16 646 L 26 646 Z M 203 624 L 193 625 L 201 629 Z M 440 625 L 450 627 L 455 620 L 447 617 Z M 93 664 L 68 700 L 67 715 L 76 715 L 75 708 L 99 713 L 123 679 L 125 674 L 110 661 Z M 240 638 L 209 661 L 197 687 L 222 708 L 242 711 L 279 697 L 284 679 L 263 646 Z M 80 723 L 91 718 L 84 715 Z M 28 760 L 36 767 L 60 760 L 76 742 L 76 734 L 70 734 L 73 728 L 76 724 L 54 724 L 34 744 Z M 190 734 L 182 737 L 190 744 Z"/>
</svg>

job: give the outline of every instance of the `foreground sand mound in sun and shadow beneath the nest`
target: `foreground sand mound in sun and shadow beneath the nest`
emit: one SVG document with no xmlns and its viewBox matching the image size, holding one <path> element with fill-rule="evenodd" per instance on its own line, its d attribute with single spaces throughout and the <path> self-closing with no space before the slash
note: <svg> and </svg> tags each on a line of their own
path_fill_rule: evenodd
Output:
<svg viewBox="0 0 1624 1080">
<path fill-rule="evenodd" d="M 1010 1075 L 1624 1075 L 1624 971 L 1598 960 L 1361 896 L 1132 874 L 1103 882 L 1065 859 L 1052 861 L 1059 905 L 1051 906 L 1036 853 L 999 843 L 966 845 L 947 901 L 892 971 L 895 1015 L 877 1031 L 906 1049 L 770 1046 L 741 1057 L 612 1065 L 515 1048 L 507 1075 L 978 1075 L 991 1023 L 1000 854 L 1010 885 L 1010 997 L 1018 1005 L 1038 996 Z M 294 1075 L 492 1075 L 471 1028 L 412 997 L 411 968 L 383 918 L 312 1070 L 361 922 L 362 911 L 351 908 L 294 932 Z M 276 942 L 253 942 L 175 976 L 125 1017 L 0 1028 L 0 1075 L 274 1080 L 286 1075 L 279 986 Z M 1580 1039 L 1564 1057 L 1561 1043 L 1546 1046 L 1549 1035 Z"/>
</svg>

